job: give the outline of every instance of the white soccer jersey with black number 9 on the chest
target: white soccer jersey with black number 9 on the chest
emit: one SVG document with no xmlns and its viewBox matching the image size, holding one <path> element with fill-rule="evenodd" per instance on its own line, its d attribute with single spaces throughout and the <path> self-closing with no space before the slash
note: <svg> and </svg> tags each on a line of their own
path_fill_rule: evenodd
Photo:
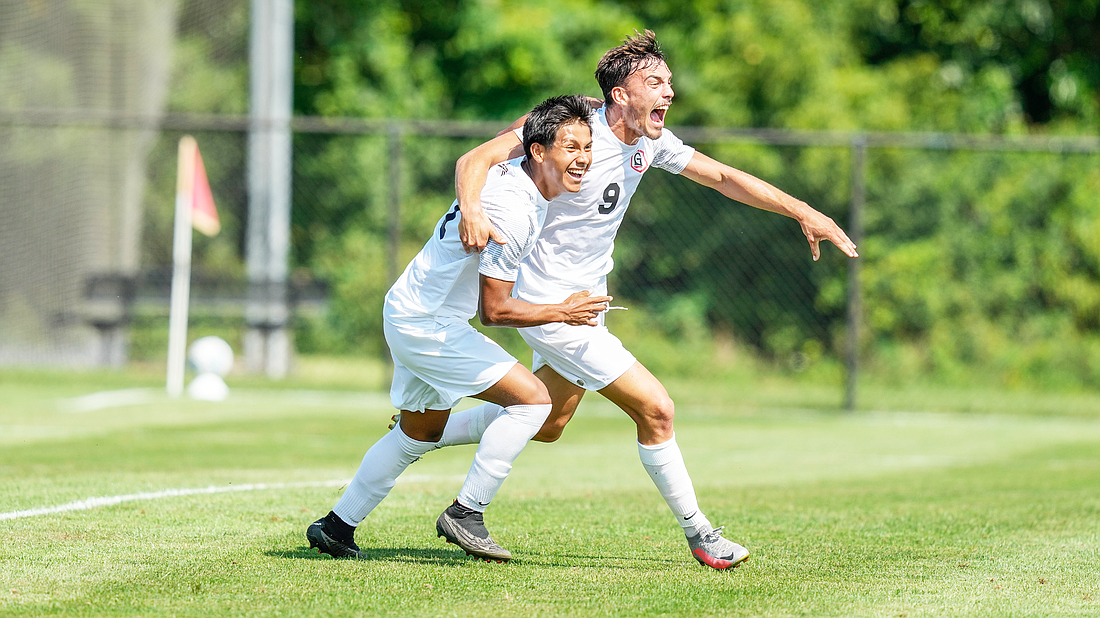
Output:
<svg viewBox="0 0 1100 618">
<path fill-rule="evenodd" d="M 641 175 L 651 165 L 680 174 L 695 154 L 668 129 L 657 140 L 624 144 L 607 125 L 606 109 L 590 122 L 592 167 L 581 190 L 550 200 L 542 232 L 522 263 L 516 296 L 528 302 L 558 302 L 585 289 L 595 294 L 615 264 L 615 234 Z"/>
</svg>

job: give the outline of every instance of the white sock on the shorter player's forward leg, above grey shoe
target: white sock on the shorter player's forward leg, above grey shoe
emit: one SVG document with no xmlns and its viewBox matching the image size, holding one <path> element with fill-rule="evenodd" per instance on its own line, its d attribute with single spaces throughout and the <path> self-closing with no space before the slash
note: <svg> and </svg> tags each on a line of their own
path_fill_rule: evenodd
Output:
<svg viewBox="0 0 1100 618">
<path fill-rule="evenodd" d="M 535 438 L 550 416 L 550 404 L 504 408 L 504 413 L 484 430 L 481 445 L 474 453 L 474 463 L 459 492 L 459 503 L 474 510 L 485 511 L 485 507 L 493 501 L 493 496 L 512 472 L 512 462 L 516 461 L 527 442 Z"/>
</svg>

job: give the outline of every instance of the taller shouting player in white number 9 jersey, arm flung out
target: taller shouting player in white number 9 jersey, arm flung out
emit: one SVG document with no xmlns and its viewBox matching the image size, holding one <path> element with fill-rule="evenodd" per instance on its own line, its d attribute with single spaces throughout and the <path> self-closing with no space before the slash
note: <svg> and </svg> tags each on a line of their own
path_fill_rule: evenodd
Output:
<svg viewBox="0 0 1100 618">
<path fill-rule="evenodd" d="M 592 121 L 593 161 L 584 185 L 550 202 L 546 224 L 516 283 L 518 298 L 546 302 L 585 289 L 606 294 L 612 251 L 630 197 L 651 166 L 718 190 L 739 202 L 795 219 L 814 260 L 828 240 L 856 257 L 856 245 L 832 219 L 776 187 L 684 145 L 664 129 L 672 103 L 672 73 L 654 34 L 635 36 L 604 54 L 596 66 L 604 101 Z M 522 133 L 508 131 L 459 159 L 455 174 L 468 249 L 481 250 L 497 232 L 483 214 L 479 194 L 485 170 L 514 156 Z M 492 174 L 490 174 L 492 176 Z M 562 249 L 565 247 L 565 249 Z M 695 489 L 673 432 L 674 406 L 664 386 L 603 325 L 548 323 L 520 329 L 535 350 L 535 375 L 546 384 L 553 407 L 536 440 L 553 442 L 576 411 L 586 390 L 597 390 L 638 426 L 638 454 L 650 478 L 683 527 L 692 555 L 714 569 L 748 558 L 741 545 L 722 537 L 698 508 Z M 455 415 L 440 444 L 477 442 L 479 431 L 503 413 L 485 404 Z M 465 428 L 472 428 L 466 430 Z M 487 431 L 486 431 L 487 435 Z"/>
</svg>

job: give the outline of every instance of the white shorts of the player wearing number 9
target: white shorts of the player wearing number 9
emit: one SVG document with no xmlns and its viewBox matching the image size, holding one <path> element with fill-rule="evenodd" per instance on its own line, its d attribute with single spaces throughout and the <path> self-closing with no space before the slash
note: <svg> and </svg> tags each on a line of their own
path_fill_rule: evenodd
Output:
<svg viewBox="0 0 1100 618">
<path fill-rule="evenodd" d="M 634 354 L 603 324 L 572 327 L 562 322 L 519 329 L 535 351 L 531 371 L 543 365 L 588 390 L 600 390 L 615 382 L 635 364 Z"/>
</svg>

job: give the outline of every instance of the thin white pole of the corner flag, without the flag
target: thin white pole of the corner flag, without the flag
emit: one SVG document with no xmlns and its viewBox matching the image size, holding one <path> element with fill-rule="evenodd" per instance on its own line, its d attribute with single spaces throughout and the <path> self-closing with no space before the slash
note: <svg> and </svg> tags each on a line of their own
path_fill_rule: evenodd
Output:
<svg viewBox="0 0 1100 618">
<path fill-rule="evenodd" d="M 195 139 L 179 140 L 176 221 L 172 241 L 172 301 L 168 308 L 168 396 L 184 394 L 187 356 L 187 307 L 191 296 L 191 187 L 195 177 Z"/>
</svg>

